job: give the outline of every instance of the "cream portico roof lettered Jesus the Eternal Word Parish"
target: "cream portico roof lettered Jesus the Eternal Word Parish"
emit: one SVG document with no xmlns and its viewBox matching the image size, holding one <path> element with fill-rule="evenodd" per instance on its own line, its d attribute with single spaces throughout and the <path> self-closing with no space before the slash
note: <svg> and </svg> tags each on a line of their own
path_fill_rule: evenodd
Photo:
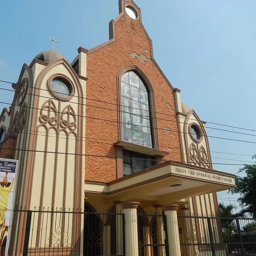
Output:
<svg viewBox="0 0 256 256">
<path fill-rule="evenodd" d="M 131 199 L 168 204 L 184 198 L 236 188 L 235 175 L 168 161 L 108 183 L 85 181 L 85 194 L 101 194 L 106 203 Z"/>
</svg>

